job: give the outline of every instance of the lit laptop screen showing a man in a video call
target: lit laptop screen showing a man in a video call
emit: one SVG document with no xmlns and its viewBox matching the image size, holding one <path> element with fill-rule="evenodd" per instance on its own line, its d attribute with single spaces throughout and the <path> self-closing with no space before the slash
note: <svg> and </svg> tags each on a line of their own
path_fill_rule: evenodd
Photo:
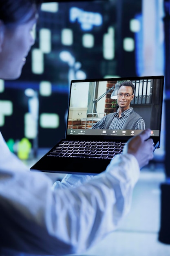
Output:
<svg viewBox="0 0 170 256">
<path fill-rule="evenodd" d="M 71 81 L 66 135 L 160 137 L 164 76 Z"/>
</svg>

